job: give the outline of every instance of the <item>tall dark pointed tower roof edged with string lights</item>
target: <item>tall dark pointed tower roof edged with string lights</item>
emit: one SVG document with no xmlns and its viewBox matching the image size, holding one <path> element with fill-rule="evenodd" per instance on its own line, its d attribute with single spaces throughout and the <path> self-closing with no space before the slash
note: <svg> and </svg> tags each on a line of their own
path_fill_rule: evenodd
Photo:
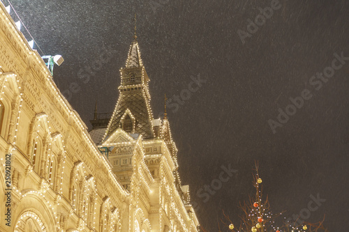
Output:
<svg viewBox="0 0 349 232">
<path fill-rule="evenodd" d="M 103 140 L 117 128 L 130 134 L 142 134 L 144 138 L 155 136 L 152 123 L 154 116 L 150 107 L 149 77 L 140 59 L 140 47 L 136 38 L 135 32 L 125 67 L 120 69 L 119 99 Z"/>
</svg>

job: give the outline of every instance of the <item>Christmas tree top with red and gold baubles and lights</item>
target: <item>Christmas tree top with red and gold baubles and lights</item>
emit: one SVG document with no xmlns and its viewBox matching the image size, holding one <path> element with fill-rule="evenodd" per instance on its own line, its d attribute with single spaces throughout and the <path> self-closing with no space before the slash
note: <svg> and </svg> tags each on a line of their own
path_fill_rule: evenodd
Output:
<svg viewBox="0 0 349 232">
<path fill-rule="evenodd" d="M 234 220 L 231 220 L 228 215 L 223 215 L 224 220 L 221 220 L 223 223 L 224 229 L 233 232 L 320 232 L 327 231 L 322 225 L 322 222 L 311 224 L 309 222 L 304 222 L 304 224 L 286 222 L 285 224 L 277 225 L 277 220 L 281 213 L 273 214 L 269 209 L 269 201 L 266 197 L 262 199 L 262 178 L 260 178 L 258 173 L 258 164 L 255 164 L 255 174 L 253 175 L 253 186 L 255 187 L 255 196 L 250 196 L 248 203 L 240 205 L 244 214 L 240 216 L 241 222 L 239 228 L 235 228 Z M 227 228 L 228 227 L 228 228 Z M 205 231 L 205 229 L 202 229 Z M 219 229 L 221 232 L 221 229 Z M 206 232 L 206 231 L 205 231 Z"/>
</svg>

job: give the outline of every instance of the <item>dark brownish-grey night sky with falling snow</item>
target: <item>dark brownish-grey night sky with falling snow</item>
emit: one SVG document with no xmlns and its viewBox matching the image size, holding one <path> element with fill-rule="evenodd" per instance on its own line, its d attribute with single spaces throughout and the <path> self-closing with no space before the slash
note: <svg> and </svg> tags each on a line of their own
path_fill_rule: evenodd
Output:
<svg viewBox="0 0 349 232">
<path fill-rule="evenodd" d="M 257 160 L 273 212 L 298 214 L 319 194 L 326 201 L 308 221 L 325 215 L 329 231 L 348 231 L 349 61 L 318 91 L 309 79 L 331 65 L 334 53 L 349 56 L 349 1 L 280 0 L 244 44 L 237 31 L 246 31 L 272 0 L 11 2 L 43 52 L 64 56 L 54 80 L 89 127 L 96 98 L 99 112 L 114 109 L 134 13 L 154 117 L 163 111 L 164 93 L 185 95 L 191 77 L 207 80 L 168 112 L 181 180 L 191 186 L 206 229 L 217 231 L 222 210 L 239 224 L 239 202 L 254 194 Z M 112 59 L 99 68 L 103 47 Z M 88 68 L 99 70 L 87 81 Z M 78 91 L 69 96 L 74 82 Z M 304 89 L 313 97 L 273 134 L 267 121 Z M 237 173 L 205 203 L 197 191 L 228 164 Z"/>
</svg>

